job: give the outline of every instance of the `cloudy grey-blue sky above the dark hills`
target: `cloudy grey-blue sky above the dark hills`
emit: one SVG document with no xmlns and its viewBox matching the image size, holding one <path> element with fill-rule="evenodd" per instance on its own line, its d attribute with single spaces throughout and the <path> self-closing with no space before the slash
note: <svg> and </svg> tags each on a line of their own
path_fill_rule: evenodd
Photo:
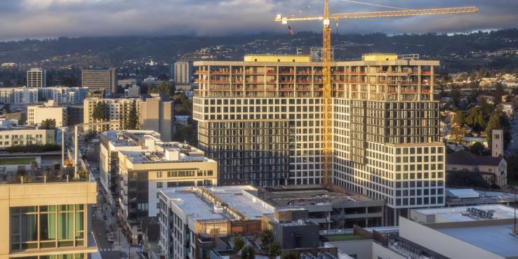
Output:
<svg viewBox="0 0 518 259">
<path fill-rule="evenodd" d="M 470 32 L 518 27 L 518 0 L 365 0 L 401 8 L 477 6 L 479 13 L 343 20 L 340 33 Z M 331 13 L 391 10 L 330 0 Z M 322 0 L 0 0 L 0 41 L 58 36 L 225 36 L 286 32 L 273 21 L 321 15 Z M 321 22 L 291 22 L 295 32 Z M 333 32 L 336 29 L 333 26 Z"/>
</svg>

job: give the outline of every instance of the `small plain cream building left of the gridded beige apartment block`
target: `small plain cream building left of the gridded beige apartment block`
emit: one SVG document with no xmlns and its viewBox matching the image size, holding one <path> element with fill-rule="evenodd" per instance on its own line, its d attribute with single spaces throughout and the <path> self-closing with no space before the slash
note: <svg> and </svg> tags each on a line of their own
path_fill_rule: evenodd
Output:
<svg viewBox="0 0 518 259">
<path fill-rule="evenodd" d="M 27 124 L 41 126 L 41 121 L 53 119 L 56 127 L 68 125 L 68 114 L 66 106 L 53 105 L 32 105 L 27 106 Z"/>
</svg>

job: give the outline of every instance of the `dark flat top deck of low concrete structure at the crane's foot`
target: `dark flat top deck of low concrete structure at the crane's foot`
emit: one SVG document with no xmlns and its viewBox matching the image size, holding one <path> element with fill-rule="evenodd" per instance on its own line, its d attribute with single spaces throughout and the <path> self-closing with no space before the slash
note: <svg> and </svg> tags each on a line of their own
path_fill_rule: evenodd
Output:
<svg viewBox="0 0 518 259">
<path fill-rule="evenodd" d="M 339 201 L 373 201 L 350 191 L 338 192 L 320 185 L 288 185 L 259 190 L 261 199 L 275 207 L 329 204 Z"/>
</svg>

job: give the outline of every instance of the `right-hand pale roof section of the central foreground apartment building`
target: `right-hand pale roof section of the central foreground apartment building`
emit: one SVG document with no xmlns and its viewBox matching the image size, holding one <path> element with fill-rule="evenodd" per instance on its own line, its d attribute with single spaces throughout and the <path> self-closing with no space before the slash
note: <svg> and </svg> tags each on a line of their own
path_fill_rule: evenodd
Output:
<svg viewBox="0 0 518 259">
<path fill-rule="evenodd" d="M 237 209 L 247 218 L 258 219 L 262 218 L 263 214 L 274 213 L 272 206 L 253 196 L 251 192 L 247 192 L 257 190 L 250 185 L 207 187 L 206 190 L 225 201 L 228 206 Z"/>
</svg>

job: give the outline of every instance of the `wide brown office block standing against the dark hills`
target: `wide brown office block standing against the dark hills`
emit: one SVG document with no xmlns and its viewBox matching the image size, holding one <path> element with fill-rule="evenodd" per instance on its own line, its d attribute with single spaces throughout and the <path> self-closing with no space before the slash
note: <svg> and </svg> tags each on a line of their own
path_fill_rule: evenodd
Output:
<svg viewBox="0 0 518 259">
<path fill-rule="evenodd" d="M 81 75 L 83 87 L 92 92 L 117 93 L 117 72 L 114 67 L 109 69 L 83 69 Z"/>
</svg>

